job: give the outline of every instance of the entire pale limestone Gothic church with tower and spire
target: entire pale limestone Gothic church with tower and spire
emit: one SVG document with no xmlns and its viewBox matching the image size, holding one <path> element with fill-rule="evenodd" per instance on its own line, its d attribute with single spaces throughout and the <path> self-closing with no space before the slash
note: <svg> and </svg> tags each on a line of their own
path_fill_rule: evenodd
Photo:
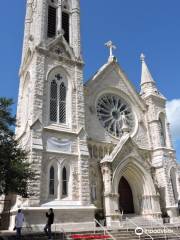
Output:
<svg viewBox="0 0 180 240">
<path fill-rule="evenodd" d="M 17 196 L 26 223 L 107 226 L 119 212 L 175 219 L 180 183 L 166 99 L 141 55 L 137 93 L 113 56 L 85 82 L 80 0 L 27 0 L 16 136 L 36 173 L 28 199 Z M 85 82 L 85 84 L 84 84 Z"/>
</svg>

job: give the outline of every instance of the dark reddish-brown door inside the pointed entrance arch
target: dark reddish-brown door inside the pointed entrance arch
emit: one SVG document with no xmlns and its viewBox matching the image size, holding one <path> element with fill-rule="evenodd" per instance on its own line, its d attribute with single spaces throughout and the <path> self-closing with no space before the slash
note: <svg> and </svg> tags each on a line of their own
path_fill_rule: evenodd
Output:
<svg viewBox="0 0 180 240">
<path fill-rule="evenodd" d="M 119 208 L 123 213 L 134 213 L 134 203 L 131 187 L 128 181 L 122 177 L 119 182 Z"/>
</svg>

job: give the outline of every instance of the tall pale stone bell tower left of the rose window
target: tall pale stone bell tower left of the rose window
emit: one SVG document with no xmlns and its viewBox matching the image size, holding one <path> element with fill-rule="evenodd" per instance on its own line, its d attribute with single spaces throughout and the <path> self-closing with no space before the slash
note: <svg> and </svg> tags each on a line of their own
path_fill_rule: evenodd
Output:
<svg viewBox="0 0 180 240">
<path fill-rule="evenodd" d="M 29 224 L 50 207 L 61 223 L 93 222 L 80 53 L 79 0 L 27 0 L 16 136 L 36 180 L 16 206 Z"/>
</svg>

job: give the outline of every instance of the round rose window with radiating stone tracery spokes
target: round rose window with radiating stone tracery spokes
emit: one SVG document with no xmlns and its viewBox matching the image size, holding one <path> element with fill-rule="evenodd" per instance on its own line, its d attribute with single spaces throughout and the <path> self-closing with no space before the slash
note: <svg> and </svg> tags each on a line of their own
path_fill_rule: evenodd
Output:
<svg viewBox="0 0 180 240">
<path fill-rule="evenodd" d="M 104 94 L 97 102 L 97 117 L 101 125 L 115 137 L 123 134 L 123 123 L 132 131 L 135 125 L 134 114 L 130 105 L 121 97 L 114 94 Z"/>
</svg>

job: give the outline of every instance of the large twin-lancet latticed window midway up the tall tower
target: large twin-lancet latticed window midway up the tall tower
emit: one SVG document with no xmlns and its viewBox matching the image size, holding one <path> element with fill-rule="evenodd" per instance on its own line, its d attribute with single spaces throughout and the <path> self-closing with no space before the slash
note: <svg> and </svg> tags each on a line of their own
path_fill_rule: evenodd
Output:
<svg viewBox="0 0 180 240">
<path fill-rule="evenodd" d="M 50 83 L 49 119 L 55 123 L 66 123 L 67 88 L 63 81 L 52 80 Z"/>
</svg>

